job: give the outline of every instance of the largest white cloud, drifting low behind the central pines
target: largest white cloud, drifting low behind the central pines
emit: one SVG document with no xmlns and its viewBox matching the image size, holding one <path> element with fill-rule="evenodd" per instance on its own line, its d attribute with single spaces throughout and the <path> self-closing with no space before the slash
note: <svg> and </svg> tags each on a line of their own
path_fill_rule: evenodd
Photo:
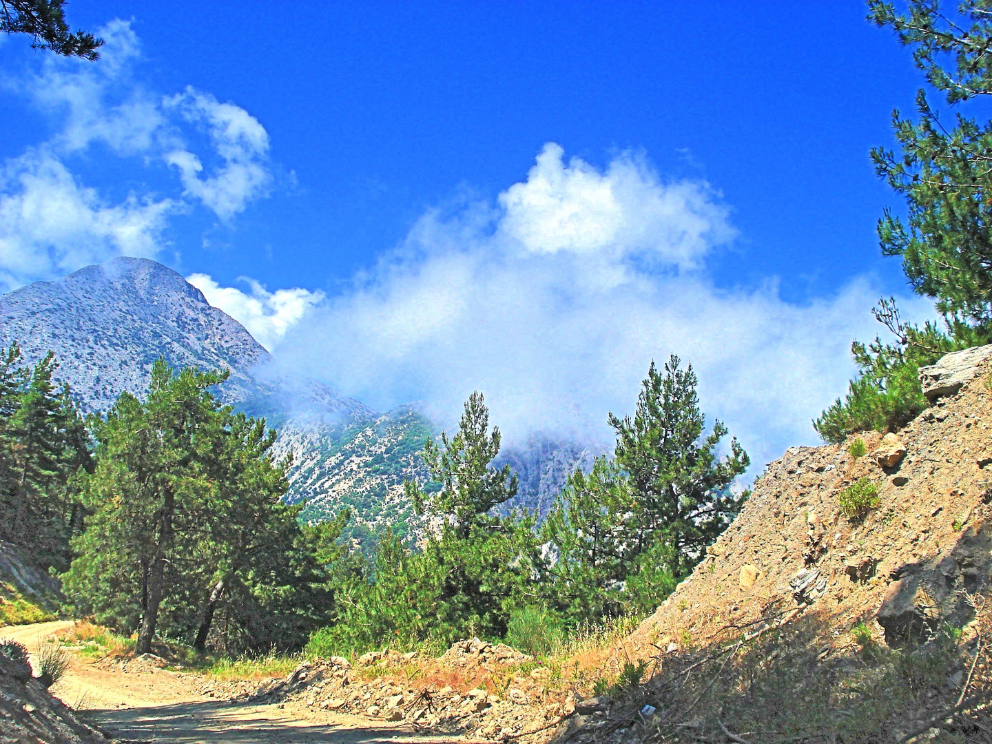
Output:
<svg viewBox="0 0 992 744">
<path fill-rule="evenodd" d="M 773 283 L 720 289 L 704 259 L 733 230 L 711 188 L 664 183 L 630 154 L 602 172 L 560 155 L 547 146 L 499 208 L 425 215 L 293 328 L 280 359 L 379 408 L 422 399 L 451 423 L 478 389 L 511 439 L 608 438 L 607 411 L 632 411 L 650 360 L 677 353 L 710 421 L 756 462 L 814 441 L 810 419 L 851 374 L 851 339 L 876 332 L 871 283 L 806 306 Z"/>
</svg>

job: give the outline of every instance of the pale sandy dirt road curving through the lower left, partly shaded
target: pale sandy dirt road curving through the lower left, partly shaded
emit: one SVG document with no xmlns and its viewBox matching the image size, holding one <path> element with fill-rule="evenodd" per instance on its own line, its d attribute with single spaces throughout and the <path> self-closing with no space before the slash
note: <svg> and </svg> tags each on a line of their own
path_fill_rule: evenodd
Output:
<svg viewBox="0 0 992 744">
<path fill-rule="evenodd" d="M 0 628 L 0 637 L 32 652 L 45 638 L 72 626 L 56 621 Z M 75 658 L 52 688 L 62 702 L 115 739 L 175 744 L 465 744 L 463 737 L 420 736 L 408 726 L 287 703 L 231 703 L 205 697 L 192 675 L 156 670 L 121 672 Z"/>
</svg>

